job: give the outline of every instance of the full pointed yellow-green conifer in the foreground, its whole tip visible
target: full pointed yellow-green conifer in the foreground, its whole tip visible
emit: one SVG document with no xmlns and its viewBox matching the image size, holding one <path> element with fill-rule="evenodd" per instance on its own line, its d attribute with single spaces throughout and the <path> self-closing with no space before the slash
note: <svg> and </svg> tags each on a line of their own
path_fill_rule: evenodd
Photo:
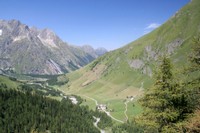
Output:
<svg viewBox="0 0 200 133">
<path fill-rule="evenodd" d="M 185 98 L 175 82 L 169 58 L 164 57 L 156 74 L 156 82 L 140 100 L 144 113 L 139 118 L 148 132 L 177 132 L 176 123 L 183 114 Z"/>
</svg>

